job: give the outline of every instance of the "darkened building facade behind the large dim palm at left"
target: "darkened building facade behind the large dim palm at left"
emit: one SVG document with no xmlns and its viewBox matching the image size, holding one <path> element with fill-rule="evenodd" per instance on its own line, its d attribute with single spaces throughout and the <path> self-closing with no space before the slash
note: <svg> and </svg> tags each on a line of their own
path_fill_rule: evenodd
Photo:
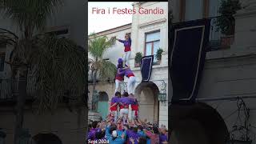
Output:
<svg viewBox="0 0 256 144">
<path fill-rule="evenodd" d="M 63 6 L 48 19 L 45 32 L 71 38 L 79 46 L 85 47 L 86 17 L 83 0 L 64 1 Z M 76 17 L 74 17 L 76 15 Z M 0 15 L 0 28 L 19 34 L 19 30 L 10 19 Z M 12 93 L 12 79 L 10 65 L 6 61 L 10 58 L 12 46 L 0 46 L 0 137 L 6 134 L 1 144 L 14 143 L 15 106 Z M 32 83 L 33 84 L 33 83 Z M 28 93 L 34 92 L 28 84 Z M 34 94 L 34 93 L 33 93 Z M 54 144 L 71 144 L 86 142 L 87 109 L 85 104 L 78 106 L 78 110 L 70 111 L 66 104 L 58 106 L 54 112 L 38 114 L 37 105 L 27 102 L 24 110 L 24 134 L 27 139 L 35 142 Z"/>
</svg>

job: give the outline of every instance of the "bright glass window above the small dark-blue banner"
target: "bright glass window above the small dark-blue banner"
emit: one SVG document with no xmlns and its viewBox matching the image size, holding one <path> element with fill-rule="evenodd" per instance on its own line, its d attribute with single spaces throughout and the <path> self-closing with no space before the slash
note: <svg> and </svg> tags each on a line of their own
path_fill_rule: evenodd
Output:
<svg viewBox="0 0 256 144">
<path fill-rule="evenodd" d="M 160 48 L 160 31 L 146 34 L 145 55 L 155 55 Z M 157 62 L 154 57 L 154 62 Z"/>
</svg>

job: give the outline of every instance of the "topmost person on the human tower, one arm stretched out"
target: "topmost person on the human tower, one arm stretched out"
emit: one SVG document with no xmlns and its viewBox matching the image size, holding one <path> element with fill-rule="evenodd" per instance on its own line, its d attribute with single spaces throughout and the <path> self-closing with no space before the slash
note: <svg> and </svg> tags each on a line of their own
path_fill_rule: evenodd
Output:
<svg viewBox="0 0 256 144">
<path fill-rule="evenodd" d="M 131 39 L 130 39 L 130 34 L 126 34 L 125 40 L 121 40 L 116 38 L 119 42 L 122 42 L 123 45 L 125 46 L 125 55 L 123 56 L 123 61 L 126 63 L 127 66 L 130 66 L 129 60 L 130 60 L 130 53 L 131 53 Z"/>
</svg>

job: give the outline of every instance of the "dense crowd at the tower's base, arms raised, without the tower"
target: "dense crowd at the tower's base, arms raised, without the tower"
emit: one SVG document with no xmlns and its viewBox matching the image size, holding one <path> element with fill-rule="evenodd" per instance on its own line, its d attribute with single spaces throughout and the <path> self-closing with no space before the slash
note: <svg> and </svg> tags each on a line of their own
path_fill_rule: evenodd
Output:
<svg viewBox="0 0 256 144">
<path fill-rule="evenodd" d="M 89 125 L 87 143 L 113 144 L 167 144 L 168 131 L 165 126 L 135 118 L 124 123 L 122 117 L 114 122 L 113 115 L 106 120 Z"/>
</svg>

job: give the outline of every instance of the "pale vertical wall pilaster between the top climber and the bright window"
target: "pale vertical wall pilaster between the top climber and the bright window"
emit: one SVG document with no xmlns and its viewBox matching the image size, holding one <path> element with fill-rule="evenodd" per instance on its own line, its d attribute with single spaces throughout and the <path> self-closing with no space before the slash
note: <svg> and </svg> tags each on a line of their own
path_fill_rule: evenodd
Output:
<svg viewBox="0 0 256 144">
<path fill-rule="evenodd" d="M 136 10 L 136 13 L 133 14 L 132 24 L 131 24 L 131 58 L 135 57 L 135 54 L 138 52 L 138 8 L 139 8 L 139 2 L 133 3 L 134 10 Z M 134 62 L 131 62 L 131 66 L 134 64 Z M 134 66 L 134 65 L 133 65 Z"/>
</svg>

